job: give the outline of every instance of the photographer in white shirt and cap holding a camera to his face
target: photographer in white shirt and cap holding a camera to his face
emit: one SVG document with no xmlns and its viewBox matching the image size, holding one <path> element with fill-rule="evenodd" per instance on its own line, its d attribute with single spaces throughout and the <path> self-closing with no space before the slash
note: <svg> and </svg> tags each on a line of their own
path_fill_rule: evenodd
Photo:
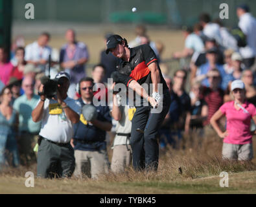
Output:
<svg viewBox="0 0 256 207">
<path fill-rule="evenodd" d="M 56 75 L 56 96 L 52 98 L 45 93 L 49 92 L 45 87 L 47 82 L 39 89 L 40 101 L 32 111 L 32 120 L 41 120 L 38 177 L 71 177 L 75 169 L 74 150 L 69 142 L 73 136 L 73 125 L 79 121 L 81 105 L 67 97 L 69 80 L 69 74 L 66 72 Z"/>
</svg>

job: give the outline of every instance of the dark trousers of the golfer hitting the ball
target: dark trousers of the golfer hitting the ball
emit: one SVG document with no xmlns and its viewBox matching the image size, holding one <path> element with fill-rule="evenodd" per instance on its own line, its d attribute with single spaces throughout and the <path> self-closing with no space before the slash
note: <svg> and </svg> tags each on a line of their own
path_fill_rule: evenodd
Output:
<svg viewBox="0 0 256 207">
<path fill-rule="evenodd" d="M 135 170 L 157 170 L 159 158 L 158 129 L 169 111 L 170 93 L 164 91 L 160 113 L 154 113 L 152 107 L 136 107 L 132 118 L 132 133 L 130 144 L 132 146 L 132 163 Z M 144 133 L 136 129 L 144 130 Z"/>
</svg>

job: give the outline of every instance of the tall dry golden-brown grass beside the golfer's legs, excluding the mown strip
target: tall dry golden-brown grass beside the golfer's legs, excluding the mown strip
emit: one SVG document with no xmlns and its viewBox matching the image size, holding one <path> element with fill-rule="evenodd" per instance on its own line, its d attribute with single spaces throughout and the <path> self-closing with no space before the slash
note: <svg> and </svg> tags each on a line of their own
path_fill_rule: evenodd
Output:
<svg viewBox="0 0 256 207">
<path fill-rule="evenodd" d="M 204 137 L 196 133 L 185 136 L 180 143 L 179 149 L 160 150 L 159 169 L 155 172 L 137 172 L 132 168 L 126 169 L 124 173 L 115 175 L 110 173 L 104 175 L 100 180 L 108 181 L 145 181 L 145 180 L 176 180 L 176 179 L 197 179 L 219 175 L 222 171 L 239 172 L 256 170 L 256 159 L 252 162 L 231 162 L 223 160 L 222 140 L 214 131 L 206 129 Z M 254 149 L 256 145 L 254 144 Z M 181 168 L 182 175 L 178 170 Z"/>
</svg>

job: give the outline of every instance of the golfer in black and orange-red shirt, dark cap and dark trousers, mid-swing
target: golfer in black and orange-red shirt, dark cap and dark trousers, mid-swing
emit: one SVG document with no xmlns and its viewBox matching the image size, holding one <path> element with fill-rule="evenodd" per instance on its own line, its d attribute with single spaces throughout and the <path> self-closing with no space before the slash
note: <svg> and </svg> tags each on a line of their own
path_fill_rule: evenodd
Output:
<svg viewBox="0 0 256 207">
<path fill-rule="evenodd" d="M 142 100 L 144 102 L 147 100 L 151 106 L 135 105 L 136 111 L 132 119 L 130 144 L 135 169 L 157 170 L 159 157 L 157 130 L 169 111 L 170 93 L 159 69 L 156 54 L 149 45 L 131 49 L 128 47 L 126 39 L 116 34 L 107 39 L 106 46 L 106 53 L 111 52 L 122 60 L 117 69 L 115 83 L 124 83 L 126 87 L 133 89 L 136 93 L 141 88 L 143 89 L 141 87 L 143 83 L 144 86 L 148 85 L 148 88 L 150 85 L 152 86 L 152 94 L 149 94 L 150 89 L 143 89 L 147 93 L 141 95 L 144 98 Z M 158 113 L 152 112 L 154 110 L 152 106 L 159 107 L 159 105 L 161 105 L 161 110 Z"/>
</svg>

